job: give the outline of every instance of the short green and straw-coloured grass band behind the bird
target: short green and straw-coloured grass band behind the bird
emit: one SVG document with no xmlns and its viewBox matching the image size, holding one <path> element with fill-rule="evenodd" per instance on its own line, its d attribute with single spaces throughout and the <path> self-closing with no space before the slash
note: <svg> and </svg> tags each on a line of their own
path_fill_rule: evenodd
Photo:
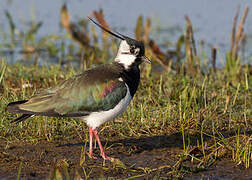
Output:
<svg viewBox="0 0 252 180">
<path fill-rule="evenodd" d="M 236 85 L 215 74 L 190 77 L 184 74 L 163 73 L 148 75 L 150 65 L 142 67 L 141 84 L 127 113 L 116 122 L 106 123 L 101 135 L 118 139 L 172 135 L 183 137 L 184 159 L 193 157 L 193 147 L 201 149 L 203 156 L 196 158 L 199 166 L 207 168 L 213 160 L 229 157 L 234 163 L 250 167 L 252 150 L 251 107 L 252 78 L 246 68 L 240 73 Z M 17 126 L 10 120 L 17 117 L 5 111 L 9 102 L 28 99 L 40 88 L 59 83 L 77 72 L 72 68 L 23 66 L 2 64 L 0 104 L 0 137 L 8 142 L 55 141 L 75 136 L 83 137 L 85 123 L 75 119 L 34 117 Z M 149 76 L 147 78 L 147 75 Z M 26 85 L 26 86 L 25 86 Z M 198 144 L 193 144 L 197 139 Z M 224 152 L 224 153 L 223 153 Z M 191 171 L 196 171 L 191 170 Z"/>
</svg>

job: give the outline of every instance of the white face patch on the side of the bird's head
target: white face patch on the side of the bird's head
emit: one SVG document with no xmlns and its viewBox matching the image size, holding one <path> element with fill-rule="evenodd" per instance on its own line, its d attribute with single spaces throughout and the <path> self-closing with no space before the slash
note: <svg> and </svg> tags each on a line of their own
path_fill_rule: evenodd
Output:
<svg viewBox="0 0 252 180">
<path fill-rule="evenodd" d="M 128 69 L 136 60 L 136 56 L 130 52 L 130 46 L 123 40 L 120 43 L 115 61 L 123 64 Z"/>
</svg>

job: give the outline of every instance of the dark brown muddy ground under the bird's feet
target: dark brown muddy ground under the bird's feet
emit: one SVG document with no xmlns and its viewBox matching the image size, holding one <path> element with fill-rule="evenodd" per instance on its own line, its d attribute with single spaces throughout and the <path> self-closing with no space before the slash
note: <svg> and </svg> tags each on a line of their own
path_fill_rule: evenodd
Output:
<svg viewBox="0 0 252 180">
<path fill-rule="evenodd" d="M 102 138 L 104 139 L 104 138 Z M 252 179 L 252 168 L 245 169 L 236 166 L 231 158 L 217 160 L 207 170 L 190 172 L 189 170 L 174 172 L 174 166 L 183 152 L 180 134 L 170 136 L 142 137 L 139 139 L 112 139 L 107 144 L 107 155 L 119 158 L 125 166 L 114 165 L 109 161 L 90 159 L 83 147 L 88 143 L 81 143 L 79 138 L 57 140 L 53 142 L 39 141 L 36 143 L 7 144 L 0 141 L 0 179 L 16 179 L 18 168 L 22 162 L 21 179 L 50 179 L 55 168 L 66 178 L 82 177 L 85 179 L 112 178 L 123 179 L 153 179 L 177 178 L 179 179 Z M 80 154 L 85 154 L 81 159 Z M 95 154 L 99 155 L 98 147 Z M 67 173 L 64 164 L 67 164 Z M 82 165 L 80 163 L 82 162 Z M 192 164 L 190 160 L 184 162 Z M 179 165 L 178 165 L 179 166 Z M 66 166 L 65 166 L 66 167 Z M 203 178 L 203 179 L 204 179 Z"/>
</svg>

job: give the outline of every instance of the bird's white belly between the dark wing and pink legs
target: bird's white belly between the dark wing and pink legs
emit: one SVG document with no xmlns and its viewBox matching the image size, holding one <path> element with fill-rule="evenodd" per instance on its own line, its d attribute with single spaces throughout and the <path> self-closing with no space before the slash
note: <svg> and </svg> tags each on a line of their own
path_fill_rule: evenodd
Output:
<svg viewBox="0 0 252 180">
<path fill-rule="evenodd" d="M 126 85 L 127 86 L 127 85 Z M 103 123 L 113 120 L 126 110 L 131 100 L 129 88 L 127 86 L 126 96 L 113 109 L 108 111 L 92 112 L 90 115 L 82 117 L 89 127 L 96 129 Z"/>
</svg>

